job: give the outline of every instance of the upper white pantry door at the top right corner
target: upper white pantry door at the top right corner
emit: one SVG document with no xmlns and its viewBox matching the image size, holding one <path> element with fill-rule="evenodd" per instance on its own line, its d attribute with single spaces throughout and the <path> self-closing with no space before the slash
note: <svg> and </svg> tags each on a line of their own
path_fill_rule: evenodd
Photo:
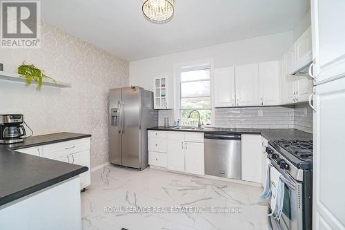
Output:
<svg viewBox="0 0 345 230">
<path fill-rule="evenodd" d="M 344 12 L 344 0 L 311 1 L 316 82 L 345 75 Z"/>
</svg>

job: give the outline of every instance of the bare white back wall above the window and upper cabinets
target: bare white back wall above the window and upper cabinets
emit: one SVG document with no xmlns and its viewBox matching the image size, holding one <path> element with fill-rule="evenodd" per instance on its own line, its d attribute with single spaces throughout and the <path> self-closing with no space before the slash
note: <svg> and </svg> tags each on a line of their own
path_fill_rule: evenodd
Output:
<svg viewBox="0 0 345 230">
<path fill-rule="evenodd" d="M 152 90 L 153 77 L 173 77 L 175 65 L 199 59 L 213 59 L 215 68 L 278 60 L 292 44 L 293 31 L 290 31 L 131 61 L 130 84 Z"/>
</svg>

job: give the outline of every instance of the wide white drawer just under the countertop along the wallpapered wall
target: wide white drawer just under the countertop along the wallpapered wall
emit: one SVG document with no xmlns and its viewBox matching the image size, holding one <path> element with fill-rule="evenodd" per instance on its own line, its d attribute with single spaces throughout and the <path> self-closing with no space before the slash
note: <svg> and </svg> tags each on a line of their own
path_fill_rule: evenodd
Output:
<svg viewBox="0 0 345 230">
<path fill-rule="evenodd" d="M 43 157 L 55 159 L 63 155 L 78 153 L 90 149 L 90 138 L 47 144 L 43 146 Z"/>
</svg>

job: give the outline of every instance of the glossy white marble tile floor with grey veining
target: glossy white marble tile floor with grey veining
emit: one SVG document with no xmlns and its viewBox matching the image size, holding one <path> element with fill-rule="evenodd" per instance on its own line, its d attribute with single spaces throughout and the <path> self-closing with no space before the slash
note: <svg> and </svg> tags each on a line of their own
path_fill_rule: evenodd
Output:
<svg viewBox="0 0 345 230">
<path fill-rule="evenodd" d="M 269 229 L 256 186 L 117 166 L 92 172 L 91 182 L 81 193 L 84 230 Z"/>
</svg>

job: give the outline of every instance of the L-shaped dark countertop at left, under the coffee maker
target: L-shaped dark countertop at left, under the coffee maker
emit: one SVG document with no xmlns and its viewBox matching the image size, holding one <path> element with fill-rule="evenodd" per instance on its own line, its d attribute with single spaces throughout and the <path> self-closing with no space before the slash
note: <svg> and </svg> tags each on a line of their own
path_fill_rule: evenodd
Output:
<svg viewBox="0 0 345 230">
<path fill-rule="evenodd" d="M 91 137 L 91 135 L 54 133 L 29 137 L 18 144 L 0 144 L 0 207 L 88 171 L 86 166 L 19 153 L 14 151 L 15 149 L 86 137 Z"/>
</svg>

